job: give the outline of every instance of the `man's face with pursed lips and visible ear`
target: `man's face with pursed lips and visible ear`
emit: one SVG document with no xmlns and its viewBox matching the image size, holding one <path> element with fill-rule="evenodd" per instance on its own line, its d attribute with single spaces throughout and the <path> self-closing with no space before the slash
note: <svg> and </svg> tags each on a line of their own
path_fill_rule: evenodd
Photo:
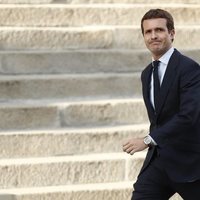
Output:
<svg viewBox="0 0 200 200">
<path fill-rule="evenodd" d="M 154 59 L 159 59 L 171 46 L 175 31 L 168 31 L 164 18 L 143 21 L 144 41 Z"/>
</svg>

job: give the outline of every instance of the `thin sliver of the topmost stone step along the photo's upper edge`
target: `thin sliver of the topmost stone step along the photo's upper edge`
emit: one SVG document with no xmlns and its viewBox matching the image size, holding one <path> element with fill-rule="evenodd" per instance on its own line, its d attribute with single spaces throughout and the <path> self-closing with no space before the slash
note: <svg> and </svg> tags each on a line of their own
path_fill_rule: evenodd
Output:
<svg viewBox="0 0 200 200">
<path fill-rule="evenodd" d="M 0 0 L 0 4 L 134 4 L 134 3 L 199 3 L 199 0 Z"/>
</svg>

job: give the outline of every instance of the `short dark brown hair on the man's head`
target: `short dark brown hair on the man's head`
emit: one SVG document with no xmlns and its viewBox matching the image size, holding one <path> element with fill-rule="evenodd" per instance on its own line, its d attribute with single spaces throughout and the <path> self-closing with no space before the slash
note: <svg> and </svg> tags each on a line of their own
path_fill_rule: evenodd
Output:
<svg viewBox="0 0 200 200">
<path fill-rule="evenodd" d="M 164 18 L 167 20 L 168 31 L 174 29 L 174 19 L 169 12 L 162 9 L 151 9 L 143 16 L 141 20 L 141 30 L 143 35 L 144 35 L 143 21 L 147 19 L 156 19 L 156 18 Z"/>
</svg>

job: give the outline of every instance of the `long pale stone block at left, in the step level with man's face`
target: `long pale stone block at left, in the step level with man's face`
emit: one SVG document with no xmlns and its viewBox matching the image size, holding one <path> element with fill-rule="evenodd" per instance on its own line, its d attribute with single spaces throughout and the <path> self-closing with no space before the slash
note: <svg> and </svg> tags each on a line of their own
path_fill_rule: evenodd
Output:
<svg viewBox="0 0 200 200">
<path fill-rule="evenodd" d="M 1 50 L 108 48 L 113 31 L 103 28 L 1 28 Z"/>
</svg>

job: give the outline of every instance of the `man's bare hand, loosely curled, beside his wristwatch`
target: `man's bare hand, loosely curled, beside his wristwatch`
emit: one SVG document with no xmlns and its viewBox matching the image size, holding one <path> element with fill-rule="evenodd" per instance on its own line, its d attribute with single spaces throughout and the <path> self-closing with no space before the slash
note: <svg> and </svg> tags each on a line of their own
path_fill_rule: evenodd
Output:
<svg viewBox="0 0 200 200">
<path fill-rule="evenodd" d="M 143 151 L 147 147 L 143 142 L 143 138 L 132 138 L 123 143 L 123 151 L 131 155 L 135 152 Z"/>
</svg>

